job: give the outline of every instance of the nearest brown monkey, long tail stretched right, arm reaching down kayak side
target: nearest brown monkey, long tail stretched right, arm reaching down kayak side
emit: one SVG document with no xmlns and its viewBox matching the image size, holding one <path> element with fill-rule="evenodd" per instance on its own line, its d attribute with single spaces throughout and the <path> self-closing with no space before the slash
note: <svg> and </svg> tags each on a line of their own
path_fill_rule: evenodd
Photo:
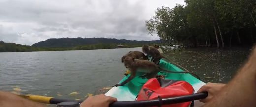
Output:
<svg viewBox="0 0 256 107">
<path fill-rule="evenodd" d="M 124 59 L 124 64 L 127 68 L 129 68 L 131 75 L 128 77 L 128 79 L 126 79 L 122 83 L 114 85 L 116 87 L 117 86 L 123 86 L 126 83 L 128 83 L 129 81 L 131 81 L 136 76 L 136 72 L 137 72 L 138 69 L 143 69 L 146 72 L 145 75 L 142 75 L 140 77 L 145 77 L 147 79 L 155 77 L 158 74 L 158 72 L 161 71 L 161 70 L 169 72 L 169 73 L 189 73 L 189 74 L 193 74 L 193 75 L 197 76 L 196 74 L 191 73 L 191 72 L 184 72 L 184 71 L 179 72 L 179 71 L 166 70 L 166 69 L 161 68 L 160 66 L 158 66 L 157 64 L 155 64 L 151 61 L 134 59 L 134 58 L 129 57 L 129 56 L 127 56 Z"/>
</svg>

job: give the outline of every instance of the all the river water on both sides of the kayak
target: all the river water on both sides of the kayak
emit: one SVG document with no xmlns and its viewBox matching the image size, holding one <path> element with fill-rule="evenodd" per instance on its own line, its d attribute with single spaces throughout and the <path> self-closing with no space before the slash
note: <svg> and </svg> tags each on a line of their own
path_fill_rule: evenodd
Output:
<svg viewBox="0 0 256 107">
<path fill-rule="evenodd" d="M 21 94 L 82 98 L 113 86 L 126 70 L 120 58 L 141 48 L 0 53 L 0 90 Z M 205 82 L 228 82 L 249 50 L 186 49 L 167 58 L 198 74 Z M 17 90 L 17 89 L 16 89 Z M 68 94 L 78 92 L 75 97 Z"/>
</svg>

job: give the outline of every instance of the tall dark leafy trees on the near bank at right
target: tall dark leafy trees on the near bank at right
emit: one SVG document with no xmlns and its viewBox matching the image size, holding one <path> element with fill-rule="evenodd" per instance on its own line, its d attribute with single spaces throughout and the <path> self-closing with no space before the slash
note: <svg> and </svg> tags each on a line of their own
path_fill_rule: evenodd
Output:
<svg viewBox="0 0 256 107">
<path fill-rule="evenodd" d="M 149 34 L 183 46 L 241 46 L 256 40 L 256 0 L 185 0 L 157 8 L 146 20 Z"/>
</svg>

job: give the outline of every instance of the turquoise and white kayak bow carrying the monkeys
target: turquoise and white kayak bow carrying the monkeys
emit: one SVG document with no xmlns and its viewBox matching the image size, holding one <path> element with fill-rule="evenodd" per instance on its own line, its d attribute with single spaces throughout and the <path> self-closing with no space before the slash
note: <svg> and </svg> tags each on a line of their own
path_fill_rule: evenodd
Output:
<svg viewBox="0 0 256 107">
<path fill-rule="evenodd" d="M 175 66 L 175 64 L 172 64 L 170 62 L 167 62 L 165 60 L 160 60 L 159 66 L 163 69 L 168 69 L 170 71 L 177 71 L 177 72 L 183 72 L 182 68 L 179 68 Z M 118 99 L 118 101 L 135 101 L 137 95 L 139 94 L 142 86 L 148 81 L 148 79 L 143 79 L 140 76 L 143 75 L 143 71 L 137 71 L 136 77 L 132 79 L 130 82 L 125 84 L 124 86 L 118 86 L 118 87 L 112 87 L 107 93 L 105 93 L 106 96 L 115 97 Z M 188 82 L 195 90 L 195 93 L 203 86 L 205 85 L 204 82 L 201 80 L 195 78 L 191 74 L 185 74 L 185 73 L 169 73 L 166 71 L 160 71 L 158 72 L 158 75 L 165 76 L 165 79 L 171 79 L 171 80 L 182 80 Z M 119 83 L 126 80 L 130 75 L 125 76 Z M 199 102 L 198 100 L 195 101 L 194 107 L 200 107 L 203 103 Z"/>
</svg>

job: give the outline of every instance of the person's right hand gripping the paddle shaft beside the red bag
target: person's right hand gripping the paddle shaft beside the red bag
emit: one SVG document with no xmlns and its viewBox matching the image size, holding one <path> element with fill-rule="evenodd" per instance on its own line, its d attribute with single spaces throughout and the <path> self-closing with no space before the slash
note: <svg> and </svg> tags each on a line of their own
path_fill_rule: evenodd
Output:
<svg viewBox="0 0 256 107">
<path fill-rule="evenodd" d="M 207 83 L 202 86 L 197 93 L 208 92 L 208 97 L 200 100 L 200 102 L 209 102 L 215 94 L 217 94 L 226 84 L 223 83 Z"/>
</svg>

